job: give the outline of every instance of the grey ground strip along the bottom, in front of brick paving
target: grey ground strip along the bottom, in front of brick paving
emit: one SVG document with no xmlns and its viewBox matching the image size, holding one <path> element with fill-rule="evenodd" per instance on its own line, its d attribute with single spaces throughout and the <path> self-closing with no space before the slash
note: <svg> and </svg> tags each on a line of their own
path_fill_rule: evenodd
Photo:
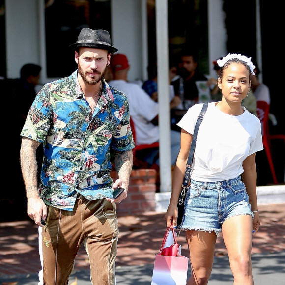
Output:
<svg viewBox="0 0 285 285">
<path fill-rule="evenodd" d="M 285 251 L 274 254 L 255 254 L 252 257 L 253 275 L 256 285 L 284 285 Z M 153 264 L 118 266 L 116 270 L 117 285 L 150 285 Z M 191 272 L 189 265 L 188 275 Z M 9 283 L 10 281 L 17 283 Z M 1 283 L 2 282 L 2 283 Z M 69 284 L 90 285 L 90 271 L 80 270 L 70 277 Z M 228 256 L 215 257 L 209 285 L 229 285 L 233 278 L 228 265 Z M 0 284 L 38 285 L 37 274 L 17 276 L 13 279 L 0 278 Z M 74 284 L 73 284 L 74 285 Z"/>
</svg>

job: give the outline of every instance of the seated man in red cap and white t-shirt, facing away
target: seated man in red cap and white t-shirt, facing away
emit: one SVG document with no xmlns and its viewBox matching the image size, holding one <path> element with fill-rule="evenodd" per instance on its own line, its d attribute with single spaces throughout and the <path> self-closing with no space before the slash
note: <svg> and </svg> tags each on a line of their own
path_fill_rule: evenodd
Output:
<svg viewBox="0 0 285 285">
<path fill-rule="evenodd" d="M 137 84 L 127 80 L 130 65 L 128 58 L 123 54 L 114 54 L 110 63 L 113 70 L 113 80 L 109 84 L 122 91 L 128 98 L 130 116 L 135 125 L 136 144 L 151 144 L 159 141 L 158 103 Z M 179 104 L 179 103 L 178 103 Z M 175 165 L 180 149 L 180 132 L 171 130 L 171 165 Z M 158 170 L 158 150 L 151 151 L 144 160 L 152 168 Z"/>
</svg>

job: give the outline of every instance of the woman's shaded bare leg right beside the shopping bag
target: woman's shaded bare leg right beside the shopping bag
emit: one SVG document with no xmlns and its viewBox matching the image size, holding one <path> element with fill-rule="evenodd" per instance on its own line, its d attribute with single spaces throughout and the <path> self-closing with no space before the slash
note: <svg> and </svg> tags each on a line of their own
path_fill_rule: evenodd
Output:
<svg viewBox="0 0 285 285">
<path fill-rule="evenodd" d="M 187 285 L 207 285 L 212 272 L 217 235 L 205 231 L 185 231 L 190 252 L 191 277 Z"/>
</svg>

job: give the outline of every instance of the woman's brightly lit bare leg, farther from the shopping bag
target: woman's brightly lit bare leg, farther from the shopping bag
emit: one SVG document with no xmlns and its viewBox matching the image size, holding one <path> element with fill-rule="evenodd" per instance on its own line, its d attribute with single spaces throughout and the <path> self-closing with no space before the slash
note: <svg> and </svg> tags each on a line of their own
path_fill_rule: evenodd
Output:
<svg viewBox="0 0 285 285">
<path fill-rule="evenodd" d="M 254 284 L 251 262 L 252 227 L 250 215 L 234 216 L 222 226 L 234 285 Z"/>
</svg>

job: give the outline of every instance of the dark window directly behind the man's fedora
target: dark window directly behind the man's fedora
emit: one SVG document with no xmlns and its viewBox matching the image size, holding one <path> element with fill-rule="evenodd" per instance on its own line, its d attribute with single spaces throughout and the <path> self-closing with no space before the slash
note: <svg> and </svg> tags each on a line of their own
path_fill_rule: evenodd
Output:
<svg viewBox="0 0 285 285">
<path fill-rule="evenodd" d="M 77 69 L 74 51 L 82 28 L 105 29 L 111 35 L 110 0 L 46 0 L 47 77 L 69 76 Z"/>
</svg>

